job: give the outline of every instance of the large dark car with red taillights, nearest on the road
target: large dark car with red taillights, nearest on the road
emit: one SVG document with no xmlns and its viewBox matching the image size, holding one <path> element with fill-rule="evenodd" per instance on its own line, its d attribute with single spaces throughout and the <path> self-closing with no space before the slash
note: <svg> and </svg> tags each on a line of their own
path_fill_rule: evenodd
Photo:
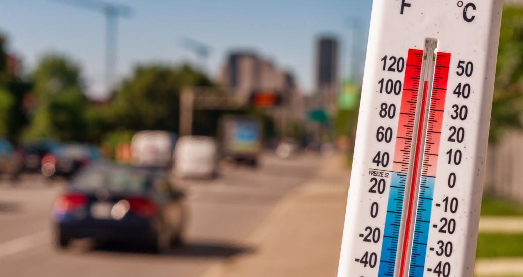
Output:
<svg viewBox="0 0 523 277">
<path fill-rule="evenodd" d="M 92 165 L 78 173 L 52 212 L 56 245 L 75 238 L 167 251 L 181 244 L 183 193 L 158 170 Z"/>
</svg>

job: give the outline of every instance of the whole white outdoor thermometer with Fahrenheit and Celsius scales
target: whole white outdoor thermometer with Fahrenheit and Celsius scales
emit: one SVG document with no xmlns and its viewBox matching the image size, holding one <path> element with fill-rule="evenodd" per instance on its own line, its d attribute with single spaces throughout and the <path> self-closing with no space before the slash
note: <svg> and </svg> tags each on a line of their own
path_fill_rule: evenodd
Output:
<svg viewBox="0 0 523 277">
<path fill-rule="evenodd" d="M 374 0 L 338 277 L 473 276 L 502 0 Z"/>
</svg>

